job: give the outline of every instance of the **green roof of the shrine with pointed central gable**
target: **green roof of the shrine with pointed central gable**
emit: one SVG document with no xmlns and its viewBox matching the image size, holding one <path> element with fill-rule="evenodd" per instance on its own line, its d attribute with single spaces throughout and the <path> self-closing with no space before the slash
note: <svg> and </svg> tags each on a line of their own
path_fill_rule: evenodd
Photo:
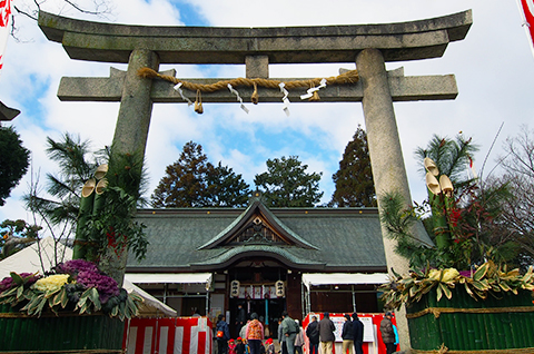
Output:
<svg viewBox="0 0 534 354">
<path fill-rule="evenodd" d="M 129 257 L 128 272 L 220 271 L 243 257 L 258 256 L 301 271 L 386 269 L 376 208 L 268 209 L 264 206 L 277 227 L 285 228 L 295 240 L 294 244 L 218 243 L 231 236 L 233 229 L 249 216 L 247 213 L 254 205 L 253 201 L 249 208 L 139 210 L 137 222 L 147 226 L 150 245 L 141 262 Z"/>
</svg>

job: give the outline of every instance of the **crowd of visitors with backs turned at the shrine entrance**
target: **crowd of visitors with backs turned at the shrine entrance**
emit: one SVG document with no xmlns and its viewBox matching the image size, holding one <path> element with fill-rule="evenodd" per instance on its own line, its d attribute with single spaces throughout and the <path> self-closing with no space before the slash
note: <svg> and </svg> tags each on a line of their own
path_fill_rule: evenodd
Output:
<svg viewBox="0 0 534 354">
<path fill-rule="evenodd" d="M 264 325 L 258 315 L 253 313 L 250 319 L 246 321 L 241 309 L 239 307 L 236 318 L 236 328 L 239 333 L 236 340 L 230 338 L 230 330 L 225 316 L 218 316 L 215 328 L 217 354 L 304 354 L 303 346 L 306 337 L 309 341 L 309 354 L 319 354 L 319 345 L 323 354 L 333 354 L 336 327 L 327 312 L 323 314 L 320 321 L 317 321 L 317 316 L 312 316 L 308 326 L 304 330 L 298 319 L 293 319 L 287 311 L 284 311 L 278 321 L 279 351 L 276 352 L 273 338 L 265 338 Z M 359 321 L 357 313 L 345 315 L 342 338 L 343 353 L 364 353 L 364 324 Z"/>
</svg>

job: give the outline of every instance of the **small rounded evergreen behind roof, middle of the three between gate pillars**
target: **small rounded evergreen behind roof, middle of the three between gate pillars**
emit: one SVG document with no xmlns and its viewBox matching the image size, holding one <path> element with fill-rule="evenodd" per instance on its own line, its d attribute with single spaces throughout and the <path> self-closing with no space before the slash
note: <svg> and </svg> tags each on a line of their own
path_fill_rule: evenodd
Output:
<svg viewBox="0 0 534 354">
<path fill-rule="evenodd" d="M 298 156 L 268 159 L 267 171 L 256 175 L 254 183 L 263 191 L 269 207 L 312 207 L 320 201 L 319 180 L 323 173 L 307 174 Z"/>
</svg>

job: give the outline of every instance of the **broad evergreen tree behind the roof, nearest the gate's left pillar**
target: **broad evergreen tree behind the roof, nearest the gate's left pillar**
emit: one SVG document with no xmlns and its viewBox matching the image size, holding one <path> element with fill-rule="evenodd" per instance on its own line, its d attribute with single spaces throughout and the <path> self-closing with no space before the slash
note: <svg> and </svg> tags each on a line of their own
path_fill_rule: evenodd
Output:
<svg viewBox="0 0 534 354">
<path fill-rule="evenodd" d="M 208 161 L 201 145 L 189 141 L 180 158 L 167 166 L 154 191 L 154 207 L 239 207 L 248 201 L 249 186 L 227 166 Z"/>
</svg>

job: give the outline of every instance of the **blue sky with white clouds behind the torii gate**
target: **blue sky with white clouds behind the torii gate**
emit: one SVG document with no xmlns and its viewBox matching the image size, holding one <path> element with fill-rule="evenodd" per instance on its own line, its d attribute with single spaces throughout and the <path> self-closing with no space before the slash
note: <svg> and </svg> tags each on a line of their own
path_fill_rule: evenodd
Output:
<svg viewBox="0 0 534 354">
<path fill-rule="evenodd" d="M 26 2 L 24 2 L 26 1 Z M 48 0 L 42 9 L 62 16 L 103 22 L 158 26 L 286 27 L 387 23 L 441 17 L 473 10 L 474 23 L 463 41 L 448 46 L 443 58 L 387 63 L 392 70 L 405 67 L 406 76 L 456 76 L 459 95 L 451 101 L 395 104 L 400 142 L 414 200 L 422 201 L 426 189 L 413 151 L 426 146 L 433 134 L 454 137 L 458 131 L 481 146 L 475 166 L 487 173 L 502 154 L 506 137 L 515 136 L 533 117 L 534 58 L 516 0 L 347 0 L 347 1 L 220 1 L 220 0 L 106 0 L 111 12 L 105 18 L 82 16 L 60 0 Z M 33 1 L 12 0 L 24 9 Z M 91 3 L 91 0 L 87 1 Z M 79 1 L 83 4 L 83 1 Z M 491 3 L 491 4 L 490 4 Z M 111 142 L 118 104 L 61 102 L 56 94 L 61 77 L 107 77 L 109 68 L 121 65 L 76 61 L 59 43 L 49 42 L 37 24 L 16 17 L 18 41 L 8 41 L 0 75 L 0 100 L 22 112 L 12 124 L 23 145 L 32 153 L 32 173 L 21 180 L 3 207 L 0 220 L 30 219 L 21 196 L 31 176 L 55 171 L 43 150 L 46 137 L 59 139 L 68 131 L 89 139 L 95 149 Z M 354 63 L 270 66 L 269 73 L 283 77 L 330 77 Z M 236 78 L 245 66 L 162 66 L 180 78 Z M 254 176 L 266 170 L 268 158 L 296 155 L 309 171 L 323 173 L 320 181 L 329 200 L 332 175 L 358 125 L 365 127 L 360 104 L 291 104 L 286 117 L 281 104 L 249 106 L 247 115 L 238 104 L 205 104 L 197 115 L 182 104 L 155 105 L 147 146 L 150 193 L 165 167 L 179 157 L 184 144 L 202 145 L 211 163 L 221 161 L 253 185 Z M 504 122 L 495 147 L 492 142 Z M 531 127 L 532 128 L 532 127 Z M 1 158 L 1 156 L 0 156 Z"/>
</svg>

